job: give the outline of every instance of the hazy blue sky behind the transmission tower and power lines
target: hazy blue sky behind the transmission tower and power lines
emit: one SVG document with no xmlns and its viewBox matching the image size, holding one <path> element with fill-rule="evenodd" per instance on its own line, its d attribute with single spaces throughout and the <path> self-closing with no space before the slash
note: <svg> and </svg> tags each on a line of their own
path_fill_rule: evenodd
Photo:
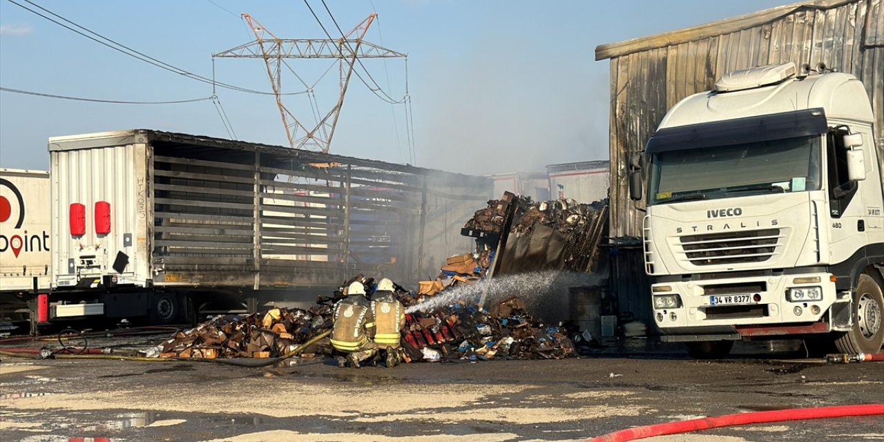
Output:
<svg viewBox="0 0 884 442">
<path fill-rule="evenodd" d="M 211 54 L 254 40 L 240 12 L 248 12 L 279 38 L 325 38 L 302 0 L 32 1 L 206 77 L 211 77 Z M 416 164 L 475 174 L 543 171 L 545 164 L 607 159 L 609 65 L 594 61 L 597 45 L 790 3 L 326 0 L 345 31 L 377 11 L 366 40 L 408 53 Z M 322 2 L 309 4 L 335 36 L 337 29 Z M 322 112 L 337 100 L 337 68 L 331 63 L 291 62 L 308 83 L 318 81 L 315 93 Z M 389 95 L 404 95 L 402 60 L 365 60 L 364 65 Z M 215 69 L 219 81 L 271 90 L 260 60 L 219 58 Z M 183 100 L 212 93 L 208 84 L 126 57 L 7 0 L 0 0 L 0 86 L 119 101 Z M 283 75 L 282 88 L 304 89 L 291 74 Z M 236 138 L 287 145 L 272 96 L 227 89 L 218 89 L 217 96 Z M 296 116 L 313 121 L 306 95 L 287 96 L 285 103 Z M 106 104 L 3 92 L 0 167 L 46 170 L 48 137 L 129 128 L 228 137 L 209 101 Z M 354 77 L 331 152 L 408 163 L 405 129 L 403 106 L 381 101 Z"/>
</svg>

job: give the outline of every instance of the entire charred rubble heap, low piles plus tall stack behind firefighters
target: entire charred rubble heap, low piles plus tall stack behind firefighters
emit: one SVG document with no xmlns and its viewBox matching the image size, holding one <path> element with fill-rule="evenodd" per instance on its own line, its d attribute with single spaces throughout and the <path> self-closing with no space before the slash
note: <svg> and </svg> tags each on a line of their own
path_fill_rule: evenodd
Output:
<svg viewBox="0 0 884 442">
<path fill-rule="evenodd" d="M 513 206 L 514 205 L 514 206 Z M 509 219 L 511 217 L 511 219 Z M 598 241 L 606 225 L 606 202 L 578 204 L 573 200 L 532 202 L 504 194 L 477 210 L 461 233 L 476 237 L 476 250 L 446 259 L 438 278 L 422 281 L 417 290 L 397 286 L 396 295 L 410 313 L 402 331 L 406 362 L 477 361 L 490 359 L 560 359 L 575 356 L 593 337 L 570 325 L 536 321 L 525 303 L 511 297 L 490 310 L 476 300 L 452 300 L 421 308 L 440 293 L 460 285 L 476 285 L 492 273 L 566 270 L 588 271 L 597 258 Z M 509 227 L 506 235 L 502 234 Z M 499 240 L 508 247 L 495 262 Z M 539 252 L 538 252 L 539 250 Z M 539 256 L 538 255 L 543 255 Z M 495 271 L 492 266 L 497 266 Z M 374 286 L 373 278 L 358 275 L 348 281 Z M 309 310 L 270 309 L 237 318 L 216 316 L 151 348 L 153 357 L 271 358 L 286 354 L 331 328 L 331 302 L 343 295 L 319 297 Z M 416 306 L 416 307 L 415 307 Z M 331 354 L 327 339 L 313 349 Z"/>
</svg>

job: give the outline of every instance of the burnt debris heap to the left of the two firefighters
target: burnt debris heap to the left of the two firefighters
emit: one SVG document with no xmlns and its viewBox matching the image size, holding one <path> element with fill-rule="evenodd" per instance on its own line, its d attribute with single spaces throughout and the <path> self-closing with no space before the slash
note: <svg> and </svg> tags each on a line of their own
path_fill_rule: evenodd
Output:
<svg viewBox="0 0 884 442">
<path fill-rule="evenodd" d="M 331 306 L 270 309 L 248 316 L 215 316 L 150 348 L 148 357 L 271 358 L 331 328 Z M 319 350 L 322 350 L 320 347 Z"/>
</svg>

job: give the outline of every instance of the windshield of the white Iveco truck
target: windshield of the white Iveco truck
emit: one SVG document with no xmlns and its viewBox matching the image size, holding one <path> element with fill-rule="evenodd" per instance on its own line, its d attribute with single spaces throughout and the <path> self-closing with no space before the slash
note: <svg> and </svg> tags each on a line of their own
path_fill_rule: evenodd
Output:
<svg viewBox="0 0 884 442">
<path fill-rule="evenodd" d="M 648 203 L 818 190 L 822 135 L 652 155 Z"/>
</svg>

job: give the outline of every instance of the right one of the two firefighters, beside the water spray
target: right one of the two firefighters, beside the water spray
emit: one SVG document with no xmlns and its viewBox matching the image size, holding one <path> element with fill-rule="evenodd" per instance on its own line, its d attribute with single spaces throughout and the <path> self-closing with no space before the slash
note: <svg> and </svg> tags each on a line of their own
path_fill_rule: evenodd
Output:
<svg viewBox="0 0 884 442">
<path fill-rule="evenodd" d="M 375 345 L 384 349 L 387 368 L 395 367 L 400 361 L 400 337 L 405 326 L 405 308 L 393 294 L 395 285 L 388 278 L 377 283 L 377 290 L 371 297 L 371 314 L 375 317 Z"/>
</svg>

